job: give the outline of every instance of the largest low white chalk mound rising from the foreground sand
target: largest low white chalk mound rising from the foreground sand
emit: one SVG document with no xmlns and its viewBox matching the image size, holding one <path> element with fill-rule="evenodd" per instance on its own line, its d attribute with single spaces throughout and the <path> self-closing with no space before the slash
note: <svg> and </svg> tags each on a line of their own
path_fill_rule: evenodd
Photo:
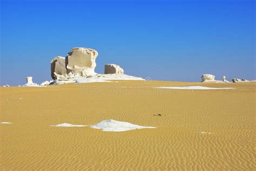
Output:
<svg viewBox="0 0 256 171">
<path fill-rule="evenodd" d="M 132 129 L 143 129 L 143 128 L 156 128 L 156 127 L 148 127 L 148 126 L 139 126 L 130 124 L 129 122 L 122 122 L 117 120 L 103 120 L 98 124 L 90 126 L 95 129 L 102 129 L 102 131 L 111 131 L 111 132 L 121 132 L 121 131 L 129 131 Z"/>
</svg>

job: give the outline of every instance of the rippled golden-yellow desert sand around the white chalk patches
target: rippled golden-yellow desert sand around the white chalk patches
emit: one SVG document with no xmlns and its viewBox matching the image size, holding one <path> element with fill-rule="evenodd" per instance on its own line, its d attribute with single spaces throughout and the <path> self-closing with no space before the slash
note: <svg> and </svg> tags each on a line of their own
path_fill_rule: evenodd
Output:
<svg viewBox="0 0 256 171">
<path fill-rule="evenodd" d="M 169 81 L 1 87 L 0 122 L 13 124 L 0 124 L 0 170 L 255 170 L 255 87 Z M 106 119 L 157 128 L 50 126 Z"/>
</svg>

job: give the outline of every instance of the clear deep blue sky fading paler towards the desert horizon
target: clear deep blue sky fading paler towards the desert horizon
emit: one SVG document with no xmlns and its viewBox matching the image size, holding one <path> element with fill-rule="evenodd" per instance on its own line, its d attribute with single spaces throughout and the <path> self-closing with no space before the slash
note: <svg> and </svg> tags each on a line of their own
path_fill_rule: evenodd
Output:
<svg viewBox="0 0 256 171">
<path fill-rule="evenodd" d="M 154 80 L 255 79 L 255 1 L 1 1 L 1 81 L 50 80 L 72 47 Z"/>
</svg>

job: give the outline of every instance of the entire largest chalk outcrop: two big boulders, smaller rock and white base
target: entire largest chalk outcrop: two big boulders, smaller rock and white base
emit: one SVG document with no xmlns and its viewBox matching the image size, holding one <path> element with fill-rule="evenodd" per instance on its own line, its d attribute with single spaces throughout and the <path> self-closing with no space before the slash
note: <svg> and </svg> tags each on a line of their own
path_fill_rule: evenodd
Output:
<svg viewBox="0 0 256 171">
<path fill-rule="evenodd" d="M 86 47 L 72 48 L 66 57 L 51 60 L 51 84 L 109 82 L 107 80 L 144 80 L 127 76 L 116 64 L 105 65 L 105 74 L 95 73 L 98 52 Z"/>
</svg>

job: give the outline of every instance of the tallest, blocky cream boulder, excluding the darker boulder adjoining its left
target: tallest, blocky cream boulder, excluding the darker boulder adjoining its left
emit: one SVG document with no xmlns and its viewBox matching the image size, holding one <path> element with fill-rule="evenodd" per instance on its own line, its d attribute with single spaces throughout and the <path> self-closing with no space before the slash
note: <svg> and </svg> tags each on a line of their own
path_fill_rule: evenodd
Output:
<svg viewBox="0 0 256 171">
<path fill-rule="evenodd" d="M 71 70 L 73 74 L 77 73 L 79 76 L 93 76 L 95 75 L 96 58 L 98 52 L 93 49 L 85 47 L 74 47 L 66 57 L 68 63 L 66 68 Z"/>
</svg>

